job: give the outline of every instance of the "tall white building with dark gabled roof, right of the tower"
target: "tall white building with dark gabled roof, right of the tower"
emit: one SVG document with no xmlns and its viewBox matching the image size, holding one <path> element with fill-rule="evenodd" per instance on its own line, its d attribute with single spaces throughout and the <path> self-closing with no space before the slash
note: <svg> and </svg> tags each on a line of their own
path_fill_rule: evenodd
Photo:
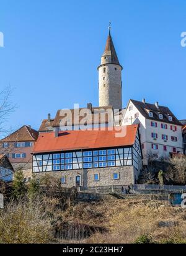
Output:
<svg viewBox="0 0 186 256">
<path fill-rule="evenodd" d="M 122 126 L 128 124 L 139 124 L 144 165 L 149 157 L 161 160 L 183 153 L 182 124 L 168 107 L 130 99 Z"/>
</svg>

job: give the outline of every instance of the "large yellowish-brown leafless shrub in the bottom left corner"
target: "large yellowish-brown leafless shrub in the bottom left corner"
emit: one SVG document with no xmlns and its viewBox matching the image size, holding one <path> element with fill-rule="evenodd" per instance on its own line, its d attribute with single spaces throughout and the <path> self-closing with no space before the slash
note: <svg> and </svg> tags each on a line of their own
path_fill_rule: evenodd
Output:
<svg viewBox="0 0 186 256">
<path fill-rule="evenodd" d="M 43 211 L 40 199 L 11 201 L 0 211 L 0 237 L 5 244 L 50 242 L 53 235 L 50 217 Z"/>
</svg>

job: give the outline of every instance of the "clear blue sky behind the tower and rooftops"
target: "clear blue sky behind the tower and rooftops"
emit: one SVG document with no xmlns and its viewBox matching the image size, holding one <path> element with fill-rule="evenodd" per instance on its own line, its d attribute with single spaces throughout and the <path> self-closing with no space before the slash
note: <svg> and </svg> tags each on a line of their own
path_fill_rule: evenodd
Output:
<svg viewBox="0 0 186 256">
<path fill-rule="evenodd" d="M 146 98 L 185 119 L 185 0 L 1 0 L 0 88 L 14 88 L 7 126 L 38 129 L 48 112 L 98 106 L 108 22 L 123 66 L 123 106 Z"/>
</svg>

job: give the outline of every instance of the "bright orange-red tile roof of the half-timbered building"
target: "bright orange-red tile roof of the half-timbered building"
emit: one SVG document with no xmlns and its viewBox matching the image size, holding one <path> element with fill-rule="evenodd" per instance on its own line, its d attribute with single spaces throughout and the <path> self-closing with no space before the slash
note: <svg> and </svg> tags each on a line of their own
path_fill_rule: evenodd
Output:
<svg viewBox="0 0 186 256">
<path fill-rule="evenodd" d="M 115 127 L 118 129 L 119 127 Z M 57 152 L 61 150 L 99 149 L 105 147 L 129 146 L 135 143 L 138 125 L 122 126 L 125 130 L 124 137 L 117 130 L 72 130 L 60 132 L 55 137 L 55 132 L 40 134 L 33 149 L 33 153 Z"/>
</svg>

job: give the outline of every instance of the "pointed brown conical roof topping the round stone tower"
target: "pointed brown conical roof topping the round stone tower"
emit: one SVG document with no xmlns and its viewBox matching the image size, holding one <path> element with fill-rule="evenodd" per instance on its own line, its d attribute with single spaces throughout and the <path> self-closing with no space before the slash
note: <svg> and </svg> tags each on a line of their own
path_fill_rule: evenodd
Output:
<svg viewBox="0 0 186 256">
<path fill-rule="evenodd" d="M 105 46 L 105 51 L 104 51 L 104 54 L 102 55 L 102 57 L 105 57 L 105 56 L 111 56 L 112 64 L 120 65 L 120 62 L 117 57 L 117 53 L 115 51 L 115 47 L 113 45 L 112 36 L 110 34 L 110 29 L 109 29 L 109 34 L 108 34 L 108 38 L 107 38 L 107 43 Z"/>
</svg>

